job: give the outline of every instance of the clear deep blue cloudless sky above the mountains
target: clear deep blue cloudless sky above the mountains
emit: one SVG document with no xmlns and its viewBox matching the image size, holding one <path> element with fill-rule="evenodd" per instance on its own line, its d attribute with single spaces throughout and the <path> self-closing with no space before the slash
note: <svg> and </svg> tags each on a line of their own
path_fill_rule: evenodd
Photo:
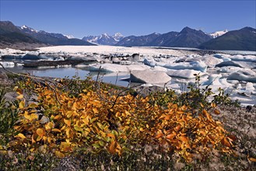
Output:
<svg viewBox="0 0 256 171">
<path fill-rule="evenodd" d="M 167 33 L 184 26 L 212 33 L 255 28 L 256 0 L 0 0 L 0 20 L 79 38 L 117 32 L 124 36 Z"/>
</svg>

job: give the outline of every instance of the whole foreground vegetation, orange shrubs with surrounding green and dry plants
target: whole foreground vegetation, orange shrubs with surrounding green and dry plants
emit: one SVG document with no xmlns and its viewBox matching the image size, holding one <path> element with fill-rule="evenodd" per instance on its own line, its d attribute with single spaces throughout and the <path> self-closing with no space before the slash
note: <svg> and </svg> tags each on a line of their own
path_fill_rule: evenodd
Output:
<svg viewBox="0 0 256 171">
<path fill-rule="evenodd" d="M 16 84 L 0 86 L 0 169 L 255 169 L 255 137 L 222 113 L 235 115 L 239 103 L 201 89 L 195 76 L 188 92 L 142 96 L 90 77 L 9 75 Z"/>
</svg>

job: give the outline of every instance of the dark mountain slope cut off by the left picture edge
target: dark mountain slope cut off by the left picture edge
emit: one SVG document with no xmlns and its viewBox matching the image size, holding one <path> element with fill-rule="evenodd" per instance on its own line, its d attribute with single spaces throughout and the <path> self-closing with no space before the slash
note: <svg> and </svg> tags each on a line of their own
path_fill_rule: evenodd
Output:
<svg viewBox="0 0 256 171">
<path fill-rule="evenodd" d="M 0 47 L 33 48 L 45 46 L 40 40 L 21 32 L 9 21 L 0 21 Z"/>
</svg>

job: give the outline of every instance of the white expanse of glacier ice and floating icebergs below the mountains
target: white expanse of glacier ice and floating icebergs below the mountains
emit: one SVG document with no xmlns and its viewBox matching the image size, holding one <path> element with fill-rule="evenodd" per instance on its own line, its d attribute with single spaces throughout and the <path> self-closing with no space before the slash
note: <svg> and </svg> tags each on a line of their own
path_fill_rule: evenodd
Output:
<svg viewBox="0 0 256 171">
<path fill-rule="evenodd" d="M 199 55 L 182 48 L 113 46 L 40 47 L 37 51 L 0 49 L 0 62 L 6 68 L 20 67 L 25 59 L 31 58 L 37 61 L 95 60 L 93 64 L 80 64 L 75 68 L 128 75 L 131 81 L 144 86 L 165 85 L 177 92 L 185 91 L 184 87 L 193 84 L 195 74 L 199 74 L 202 88 L 210 85 L 216 93 L 222 88 L 230 93 L 231 99 L 239 99 L 243 105 L 256 105 L 256 52 L 222 51 Z"/>
</svg>

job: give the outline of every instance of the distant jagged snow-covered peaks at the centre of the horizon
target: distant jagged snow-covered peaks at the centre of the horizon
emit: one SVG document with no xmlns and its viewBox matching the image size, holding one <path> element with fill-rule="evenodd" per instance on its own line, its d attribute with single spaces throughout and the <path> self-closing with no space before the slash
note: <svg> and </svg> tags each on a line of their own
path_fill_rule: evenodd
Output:
<svg viewBox="0 0 256 171">
<path fill-rule="evenodd" d="M 123 38 L 124 36 L 121 35 L 121 33 L 115 33 L 113 36 L 103 33 L 100 36 L 83 37 L 82 40 L 86 40 L 93 44 L 114 45 Z"/>
</svg>

